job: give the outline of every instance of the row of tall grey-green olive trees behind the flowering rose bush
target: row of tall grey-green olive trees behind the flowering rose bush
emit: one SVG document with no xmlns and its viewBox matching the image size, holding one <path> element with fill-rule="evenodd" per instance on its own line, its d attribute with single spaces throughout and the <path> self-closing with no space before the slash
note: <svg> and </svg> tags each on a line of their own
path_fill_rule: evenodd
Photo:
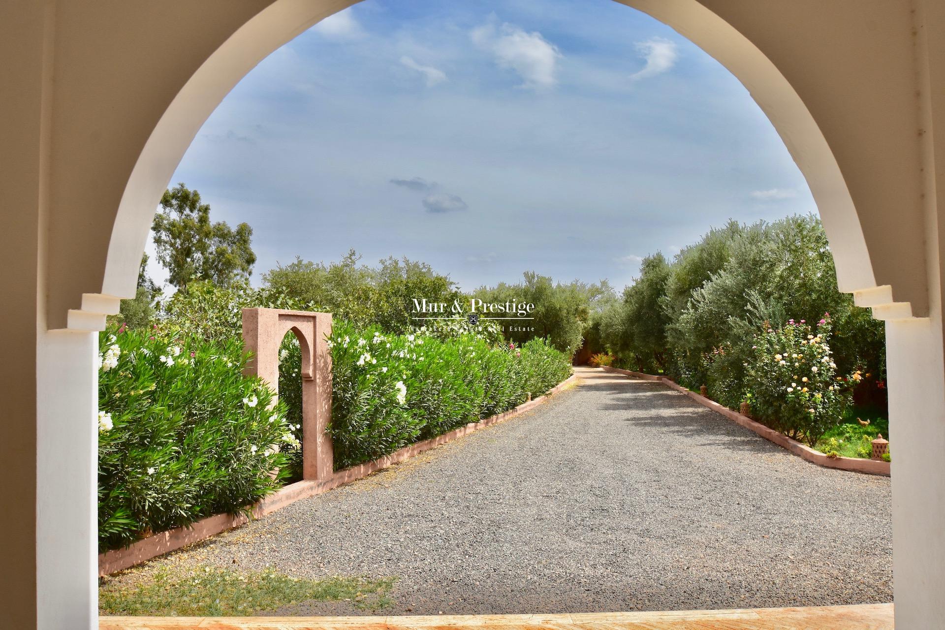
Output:
<svg viewBox="0 0 945 630">
<path fill-rule="evenodd" d="M 833 255 L 816 216 L 729 222 L 684 247 L 668 269 L 661 259 L 647 257 L 624 300 L 600 317 L 605 345 L 632 369 L 662 368 L 679 383 L 707 383 L 731 406 L 746 390 L 751 333 L 765 318 L 786 320 L 759 319 L 763 306 L 812 321 L 830 312 L 837 369 L 862 366 L 884 380 L 883 323 L 837 289 Z M 882 404 L 882 398 L 872 401 Z"/>
</svg>

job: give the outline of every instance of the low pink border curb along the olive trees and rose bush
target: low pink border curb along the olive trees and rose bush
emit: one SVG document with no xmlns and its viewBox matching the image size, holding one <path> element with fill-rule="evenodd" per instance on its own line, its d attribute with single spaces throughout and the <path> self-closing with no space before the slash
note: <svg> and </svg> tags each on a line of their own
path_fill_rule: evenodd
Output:
<svg viewBox="0 0 945 630">
<path fill-rule="evenodd" d="M 634 372 L 628 369 L 621 369 L 619 367 L 604 367 L 604 370 L 608 372 L 615 372 L 617 374 L 623 374 L 624 376 L 629 376 L 634 379 L 657 381 L 668 387 L 671 387 L 679 392 L 682 392 L 689 398 L 696 400 L 696 402 L 699 404 L 708 407 L 714 412 L 728 417 L 730 420 L 734 420 L 746 429 L 750 429 L 756 434 L 761 435 L 769 442 L 774 442 L 778 446 L 793 452 L 799 457 L 803 457 L 808 462 L 816 464 L 817 466 L 823 466 L 824 468 L 839 468 L 840 470 L 851 470 L 853 472 L 864 472 L 870 475 L 885 475 L 886 477 L 889 476 L 889 462 L 881 462 L 875 459 L 860 459 L 857 457 L 828 457 L 820 451 L 815 451 L 809 446 L 801 444 L 798 440 L 791 439 L 785 434 L 765 427 L 764 424 L 756 422 L 750 417 L 742 416 L 737 411 L 732 411 L 725 405 L 721 405 L 714 400 L 709 400 L 704 396 L 700 396 L 699 394 L 696 394 L 696 392 L 686 389 L 679 383 L 674 383 L 664 376 L 644 374 L 643 372 Z"/>
</svg>

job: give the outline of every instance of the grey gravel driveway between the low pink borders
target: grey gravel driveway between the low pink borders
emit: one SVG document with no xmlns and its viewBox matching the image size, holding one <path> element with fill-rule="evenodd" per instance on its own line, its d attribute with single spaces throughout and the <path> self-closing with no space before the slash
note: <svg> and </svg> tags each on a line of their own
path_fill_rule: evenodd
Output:
<svg viewBox="0 0 945 630">
<path fill-rule="evenodd" d="M 577 371 L 523 417 L 149 566 L 396 575 L 387 614 L 892 601 L 888 478 L 809 464 L 662 384 Z"/>
</svg>

